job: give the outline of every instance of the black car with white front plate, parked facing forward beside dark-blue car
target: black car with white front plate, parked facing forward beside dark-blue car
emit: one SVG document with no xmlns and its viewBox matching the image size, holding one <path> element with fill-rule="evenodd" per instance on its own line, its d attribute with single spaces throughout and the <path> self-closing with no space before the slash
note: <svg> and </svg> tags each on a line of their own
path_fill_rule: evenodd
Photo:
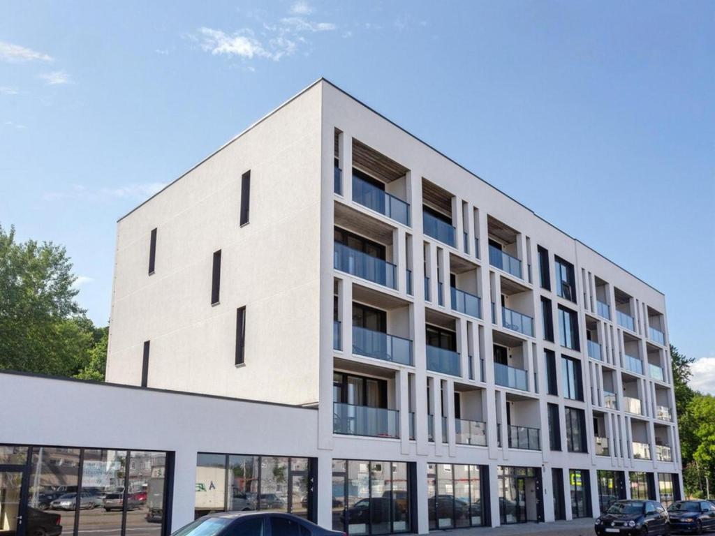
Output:
<svg viewBox="0 0 715 536">
<path fill-rule="evenodd" d="M 616 501 L 593 527 L 598 536 L 670 534 L 668 512 L 660 502 L 651 500 Z"/>
</svg>

